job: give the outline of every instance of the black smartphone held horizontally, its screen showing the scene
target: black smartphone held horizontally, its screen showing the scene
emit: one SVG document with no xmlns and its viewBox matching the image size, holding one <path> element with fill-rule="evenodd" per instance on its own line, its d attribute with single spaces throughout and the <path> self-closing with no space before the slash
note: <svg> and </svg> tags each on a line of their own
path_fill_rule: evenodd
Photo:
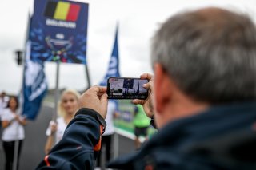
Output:
<svg viewBox="0 0 256 170">
<path fill-rule="evenodd" d="M 110 77 L 107 80 L 107 95 L 109 99 L 142 99 L 148 96 L 148 90 L 142 85 L 148 80 L 129 77 Z"/>
</svg>

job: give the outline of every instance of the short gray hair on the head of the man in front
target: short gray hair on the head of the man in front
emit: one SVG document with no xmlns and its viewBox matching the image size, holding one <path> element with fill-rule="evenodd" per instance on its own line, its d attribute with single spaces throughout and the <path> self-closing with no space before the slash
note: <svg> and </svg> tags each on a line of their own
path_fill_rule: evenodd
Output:
<svg viewBox="0 0 256 170">
<path fill-rule="evenodd" d="M 194 100 L 256 98 L 256 28 L 246 14 L 219 8 L 176 14 L 152 40 L 153 64 Z"/>
</svg>

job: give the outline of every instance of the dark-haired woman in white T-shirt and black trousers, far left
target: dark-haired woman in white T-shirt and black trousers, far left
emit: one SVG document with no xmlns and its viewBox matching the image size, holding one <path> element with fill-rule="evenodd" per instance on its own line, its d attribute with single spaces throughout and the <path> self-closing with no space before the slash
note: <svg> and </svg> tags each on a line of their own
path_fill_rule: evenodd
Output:
<svg viewBox="0 0 256 170">
<path fill-rule="evenodd" d="M 13 169 L 15 141 L 18 142 L 19 160 L 22 141 L 25 139 L 24 125 L 26 125 L 26 119 L 18 113 L 18 98 L 10 97 L 2 113 L 2 146 L 6 154 L 6 170 Z"/>
</svg>

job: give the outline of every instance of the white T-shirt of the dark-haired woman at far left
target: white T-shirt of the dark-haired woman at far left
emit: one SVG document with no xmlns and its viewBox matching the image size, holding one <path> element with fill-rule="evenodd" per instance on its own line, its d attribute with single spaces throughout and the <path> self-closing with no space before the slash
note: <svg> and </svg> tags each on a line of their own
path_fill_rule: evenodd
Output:
<svg viewBox="0 0 256 170">
<path fill-rule="evenodd" d="M 2 112 L 2 121 L 14 120 L 15 114 L 10 111 L 9 108 L 4 109 Z M 20 118 L 22 118 L 20 116 Z M 14 141 L 14 140 L 24 140 L 25 132 L 23 125 L 20 125 L 18 121 L 14 120 L 2 131 L 2 141 Z"/>
</svg>

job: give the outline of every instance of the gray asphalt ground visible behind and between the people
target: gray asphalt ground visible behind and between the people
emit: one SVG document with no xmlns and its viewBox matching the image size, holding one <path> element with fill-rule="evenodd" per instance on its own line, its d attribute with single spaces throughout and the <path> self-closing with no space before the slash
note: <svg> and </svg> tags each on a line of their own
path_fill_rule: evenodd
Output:
<svg viewBox="0 0 256 170">
<path fill-rule="evenodd" d="M 35 121 L 28 121 L 25 127 L 26 138 L 22 145 L 22 152 L 19 160 L 19 170 L 32 170 L 37 167 L 43 160 L 44 145 L 46 143 L 46 128 L 54 113 L 52 105 L 42 105 L 38 117 Z M 113 140 L 114 142 L 114 140 Z M 0 140 L 0 170 L 4 170 L 5 156 L 2 149 L 2 141 Z M 115 136 L 113 144 L 112 157 L 122 156 L 129 152 L 134 152 L 134 140 L 126 136 Z M 104 149 L 102 149 L 104 152 Z M 102 159 L 104 161 L 104 158 Z"/>
</svg>

